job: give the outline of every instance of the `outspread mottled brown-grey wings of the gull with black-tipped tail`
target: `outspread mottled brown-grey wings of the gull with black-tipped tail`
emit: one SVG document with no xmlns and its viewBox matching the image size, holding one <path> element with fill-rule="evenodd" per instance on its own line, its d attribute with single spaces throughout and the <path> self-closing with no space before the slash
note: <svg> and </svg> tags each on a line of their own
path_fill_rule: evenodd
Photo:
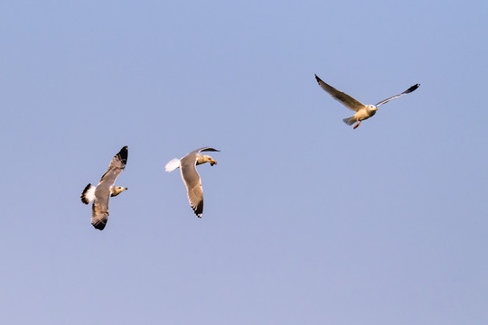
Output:
<svg viewBox="0 0 488 325">
<path fill-rule="evenodd" d="M 93 227 L 103 230 L 108 220 L 108 200 L 110 199 L 110 187 L 114 185 L 118 175 L 126 168 L 127 145 L 118 152 L 110 165 L 108 171 L 103 174 L 99 185 L 95 189 L 95 200 L 91 208 L 91 224 Z"/>
</svg>

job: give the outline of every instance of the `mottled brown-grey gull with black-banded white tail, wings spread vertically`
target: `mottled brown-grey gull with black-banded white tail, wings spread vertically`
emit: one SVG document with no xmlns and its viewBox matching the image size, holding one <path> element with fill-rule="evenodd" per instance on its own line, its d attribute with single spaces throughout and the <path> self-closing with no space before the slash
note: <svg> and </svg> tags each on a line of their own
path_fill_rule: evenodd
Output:
<svg viewBox="0 0 488 325">
<path fill-rule="evenodd" d="M 107 225 L 108 199 L 127 190 L 127 188 L 122 186 L 114 186 L 118 175 L 126 168 L 127 154 L 126 145 L 114 156 L 107 172 L 101 177 L 99 185 L 93 186 L 89 183 L 80 195 L 81 202 L 85 204 L 89 204 L 92 200 L 94 201 L 91 208 L 91 224 L 96 229 L 103 230 Z"/>
</svg>

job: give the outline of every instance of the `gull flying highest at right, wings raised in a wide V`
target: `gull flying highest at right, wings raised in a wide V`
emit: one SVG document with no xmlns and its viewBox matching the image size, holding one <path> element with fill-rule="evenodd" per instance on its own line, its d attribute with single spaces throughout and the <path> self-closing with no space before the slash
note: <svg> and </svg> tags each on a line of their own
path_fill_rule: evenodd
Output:
<svg viewBox="0 0 488 325">
<path fill-rule="evenodd" d="M 322 81 L 322 79 L 318 78 L 317 75 L 315 75 L 315 79 L 317 79 L 319 86 L 323 88 L 326 92 L 328 92 L 334 99 L 337 99 L 341 102 L 341 104 L 343 104 L 343 106 L 351 108 L 353 111 L 356 112 L 354 116 L 343 119 L 344 123 L 347 125 L 353 125 L 354 123 L 356 123 L 356 125 L 354 125 L 354 128 L 358 127 L 361 124 L 362 120 L 368 119 L 371 116 L 375 115 L 380 105 L 388 103 L 391 99 L 399 98 L 403 95 L 411 93 L 412 91 L 417 89 L 418 86 L 420 86 L 420 84 L 413 85 L 401 94 L 381 100 L 380 103 L 376 105 L 364 105 L 356 99 L 352 98 L 351 96 L 347 95 L 346 93 L 343 93 L 342 91 L 327 85 L 324 81 Z"/>
</svg>

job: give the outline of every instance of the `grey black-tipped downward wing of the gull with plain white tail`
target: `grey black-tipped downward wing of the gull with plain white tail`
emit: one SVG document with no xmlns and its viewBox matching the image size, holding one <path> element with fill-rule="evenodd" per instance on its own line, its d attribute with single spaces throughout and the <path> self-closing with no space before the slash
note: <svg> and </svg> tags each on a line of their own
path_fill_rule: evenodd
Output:
<svg viewBox="0 0 488 325">
<path fill-rule="evenodd" d="M 207 148 L 212 149 L 212 148 Z M 197 154 L 200 151 L 207 151 L 197 149 L 192 153 L 188 153 L 181 159 L 180 171 L 182 172 L 182 179 L 184 186 L 186 186 L 188 200 L 193 212 L 198 218 L 202 218 L 203 213 L 203 190 L 200 174 L 196 170 Z M 215 149 L 210 151 L 216 151 Z"/>
</svg>

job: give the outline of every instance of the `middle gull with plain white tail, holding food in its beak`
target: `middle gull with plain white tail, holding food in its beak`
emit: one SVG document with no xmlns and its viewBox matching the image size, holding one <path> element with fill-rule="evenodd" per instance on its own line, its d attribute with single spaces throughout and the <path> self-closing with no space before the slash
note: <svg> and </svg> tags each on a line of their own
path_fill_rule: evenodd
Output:
<svg viewBox="0 0 488 325">
<path fill-rule="evenodd" d="M 203 190 L 202 180 L 196 170 L 196 165 L 211 163 L 211 166 L 213 166 L 214 164 L 217 164 L 210 155 L 202 154 L 202 152 L 220 152 L 220 150 L 211 147 L 202 147 L 193 150 L 191 153 L 187 153 L 182 159 L 172 159 L 169 163 L 166 163 L 166 166 L 164 167 L 166 172 L 173 172 L 176 168 L 180 168 L 183 183 L 188 192 L 190 206 L 198 218 L 202 218 L 203 213 Z"/>
</svg>

